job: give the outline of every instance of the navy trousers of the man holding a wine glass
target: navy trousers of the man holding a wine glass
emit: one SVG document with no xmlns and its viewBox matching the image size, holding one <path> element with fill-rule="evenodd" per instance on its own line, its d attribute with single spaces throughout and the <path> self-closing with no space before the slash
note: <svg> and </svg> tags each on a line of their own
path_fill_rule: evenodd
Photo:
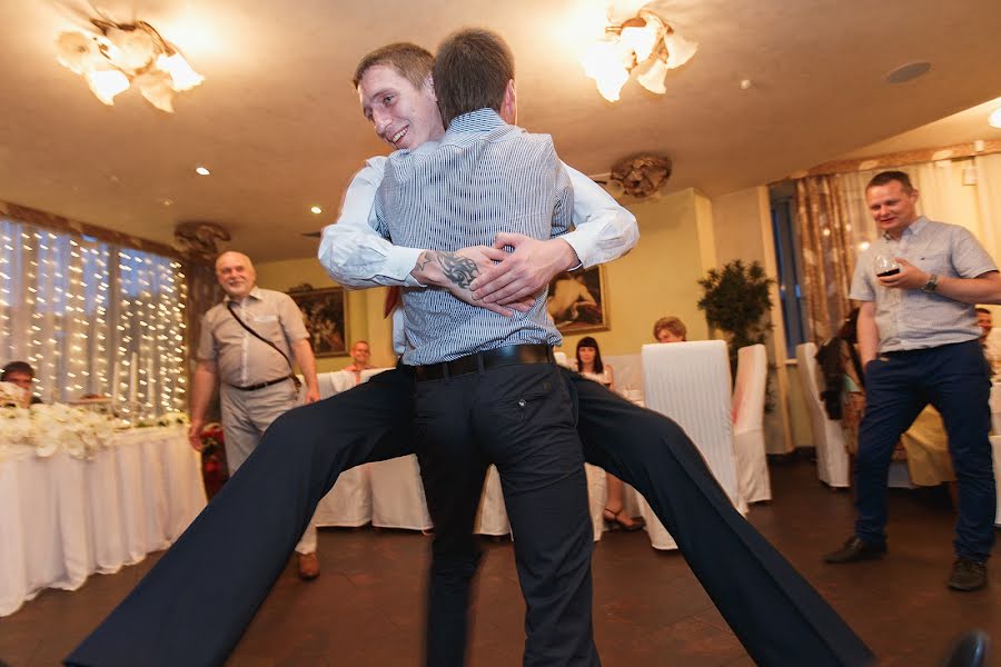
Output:
<svg viewBox="0 0 1001 667">
<path fill-rule="evenodd" d="M 977 340 L 881 355 L 865 366 L 855 457 L 855 535 L 886 540 L 886 476 L 900 436 L 928 404 L 942 415 L 955 468 L 955 554 L 983 563 L 994 544 L 997 490 L 988 431 L 991 374 Z"/>
</svg>

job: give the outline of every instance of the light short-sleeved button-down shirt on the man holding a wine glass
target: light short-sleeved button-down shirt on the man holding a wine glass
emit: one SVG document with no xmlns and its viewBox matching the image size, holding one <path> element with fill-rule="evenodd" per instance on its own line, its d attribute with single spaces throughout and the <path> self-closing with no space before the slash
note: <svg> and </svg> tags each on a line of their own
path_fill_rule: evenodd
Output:
<svg viewBox="0 0 1001 667">
<path fill-rule="evenodd" d="M 875 301 L 881 352 L 939 347 L 980 337 L 973 306 L 934 292 L 883 287 L 876 280 L 879 255 L 902 257 L 922 271 L 950 278 L 975 278 L 997 271 L 987 250 L 959 225 L 934 222 L 923 216 L 900 237 L 876 239 L 859 257 L 850 298 Z"/>
</svg>

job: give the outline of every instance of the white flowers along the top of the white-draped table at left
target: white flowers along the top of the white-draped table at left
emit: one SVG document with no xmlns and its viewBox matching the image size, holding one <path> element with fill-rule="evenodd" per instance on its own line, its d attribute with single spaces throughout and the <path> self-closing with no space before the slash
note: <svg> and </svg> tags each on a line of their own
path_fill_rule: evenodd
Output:
<svg viewBox="0 0 1001 667">
<path fill-rule="evenodd" d="M 167 412 L 141 426 L 187 422 L 187 415 Z M 127 425 L 107 415 L 62 404 L 39 404 L 30 408 L 8 405 L 0 407 L 0 454 L 4 447 L 27 445 L 33 447 L 39 457 L 50 457 L 62 449 L 73 458 L 90 459 L 98 450 L 110 446 L 115 431 L 122 426 Z"/>
</svg>

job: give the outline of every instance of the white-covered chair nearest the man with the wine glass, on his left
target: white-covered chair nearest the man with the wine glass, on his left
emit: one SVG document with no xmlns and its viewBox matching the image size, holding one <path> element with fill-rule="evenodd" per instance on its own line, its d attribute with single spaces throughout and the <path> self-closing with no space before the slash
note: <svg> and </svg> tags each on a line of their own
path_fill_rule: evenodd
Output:
<svg viewBox="0 0 1001 667">
<path fill-rule="evenodd" d="M 816 345 L 804 342 L 796 346 L 796 366 L 800 369 L 803 400 L 810 411 L 810 428 L 816 450 L 816 476 L 827 486 L 846 488 L 851 486 L 849 455 L 844 447 L 841 421 L 827 417 L 820 399 L 816 386 Z"/>
</svg>

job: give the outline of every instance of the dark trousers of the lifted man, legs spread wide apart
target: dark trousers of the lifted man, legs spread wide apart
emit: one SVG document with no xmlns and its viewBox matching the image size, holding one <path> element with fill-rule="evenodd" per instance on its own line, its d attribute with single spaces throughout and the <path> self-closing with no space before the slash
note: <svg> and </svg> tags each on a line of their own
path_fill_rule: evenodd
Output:
<svg viewBox="0 0 1001 667">
<path fill-rule="evenodd" d="M 577 374 L 561 372 L 576 394 L 585 459 L 646 498 L 755 663 L 871 661 L 872 653 L 844 620 L 734 510 L 676 424 Z M 413 452 L 413 378 L 390 370 L 278 418 L 222 491 L 67 664 L 222 664 L 341 470 Z"/>
</svg>

